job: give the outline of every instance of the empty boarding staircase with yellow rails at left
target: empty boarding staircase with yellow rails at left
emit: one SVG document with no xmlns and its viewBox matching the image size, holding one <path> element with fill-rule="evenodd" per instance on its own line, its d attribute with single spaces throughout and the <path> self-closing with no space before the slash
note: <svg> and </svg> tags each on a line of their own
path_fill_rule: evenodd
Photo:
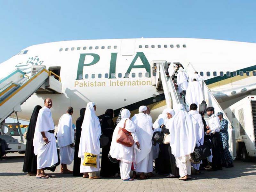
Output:
<svg viewBox="0 0 256 192">
<path fill-rule="evenodd" d="M 0 123 L 13 112 L 20 112 L 20 105 L 34 93 L 62 93 L 60 77 L 45 66 L 33 66 L 27 76 L 20 69 L 0 80 Z"/>
</svg>

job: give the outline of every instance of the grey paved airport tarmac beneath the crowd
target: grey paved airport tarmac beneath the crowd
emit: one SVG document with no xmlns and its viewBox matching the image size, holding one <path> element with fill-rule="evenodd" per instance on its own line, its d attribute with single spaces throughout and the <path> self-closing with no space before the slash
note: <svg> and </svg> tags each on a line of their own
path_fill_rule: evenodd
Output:
<svg viewBox="0 0 256 192">
<path fill-rule="evenodd" d="M 99 180 L 73 177 L 72 174 L 60 173 L 60 166 L 50 179 L 36 179 L 22 172 L 24 154 L 7 154 L 0 158 L 0 191 L 79 191 L 79 192 L 183 192 L 183 191 L 256 191 L 256 161 L 234 161 L 235 167 L 223 168 L 222 171 L 202 171 L 192 175 L 192 180 L 164 178 L 157 175 L 148 180 L 122 181 L 120 178 Z M 73 170 L 73 164 L 68 165 Z M 193 173 L 194 171 L 192 171 Z M 47 172 L 48 173 L 48 172 Z M 99 173 L 98 173 L 99 174 Z"/>
</svg>

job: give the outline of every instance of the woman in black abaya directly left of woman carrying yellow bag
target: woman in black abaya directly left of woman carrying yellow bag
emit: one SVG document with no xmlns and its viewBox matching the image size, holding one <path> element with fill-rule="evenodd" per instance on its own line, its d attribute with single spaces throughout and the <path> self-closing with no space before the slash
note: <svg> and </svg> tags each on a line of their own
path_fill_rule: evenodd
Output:
<svg viewBox="0 0 256 192">
<path fill-rule="evenodd" d="M 82 131 L 81 126 L 84 121 L 84 113 L 85 113 L 85 108 L 81 108 L 80 117 L 78 117 L 76 120 L 76 141 L 75 141 L 74 167 L 73 167 L 74 176 L 83 175 L 83 173 L 80 173 L 81 158 L 78 157 L 78 149 L 79 149 L 79 143 L 80 143 L 80 137 L 81 137 L 81 131 Z"/>
</svg>

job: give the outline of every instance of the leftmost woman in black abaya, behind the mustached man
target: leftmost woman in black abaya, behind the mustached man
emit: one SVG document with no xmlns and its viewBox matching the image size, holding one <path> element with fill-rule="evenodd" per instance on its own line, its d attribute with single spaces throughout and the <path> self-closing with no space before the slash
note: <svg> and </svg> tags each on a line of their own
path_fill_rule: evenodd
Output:
<svg viewBox="0 0 256 192">
<path fill-rule="evenodd" d="M 38 112 L 42 107 L 37 105 L 33 113 L 30 117 L 30 122 L 28 125 L 28 131 L 26 135 L 27 143 L 26 143 L 26 151 L 25 151 L 25 158 L 23 164 L 23 172 L 27 172 L 29 176 L 36 175 L 37 172 L 37 163 L 36 163 L 36 156 L 34 154 L 34 146 L 33 146 L 33 139 L 34 133 L 36 128 L 36 120 L 38 116 Z"/>
</svg>

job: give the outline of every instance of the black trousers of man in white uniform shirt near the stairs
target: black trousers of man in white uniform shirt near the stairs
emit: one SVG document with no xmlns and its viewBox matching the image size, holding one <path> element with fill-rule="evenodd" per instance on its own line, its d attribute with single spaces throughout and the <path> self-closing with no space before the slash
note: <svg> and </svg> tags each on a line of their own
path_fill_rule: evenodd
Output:
<svg viewBox="0 0 256 192">
<path fill-rule="evenodd" d="M 212 169 L 221 168 L 221 140 L 220 140 L 220 133 L 215 132 L 211 134 L 211 141 L 212 141 Z"/>
</svg>

